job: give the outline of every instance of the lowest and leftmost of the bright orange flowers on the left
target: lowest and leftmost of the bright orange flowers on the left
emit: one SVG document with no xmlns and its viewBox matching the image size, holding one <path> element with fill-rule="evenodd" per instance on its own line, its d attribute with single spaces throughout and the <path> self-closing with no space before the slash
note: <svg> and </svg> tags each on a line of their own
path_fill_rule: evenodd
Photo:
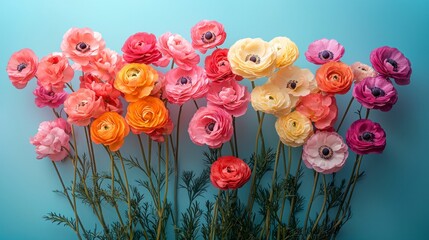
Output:
<svg viewBox="0 0 429 240">
<path fill-rule="evenodd" d="M 118 151 L 130 132 L 125 119 L 117 112 L 105 112 L 91 123 L 91 140 Z"/>
</svg>

